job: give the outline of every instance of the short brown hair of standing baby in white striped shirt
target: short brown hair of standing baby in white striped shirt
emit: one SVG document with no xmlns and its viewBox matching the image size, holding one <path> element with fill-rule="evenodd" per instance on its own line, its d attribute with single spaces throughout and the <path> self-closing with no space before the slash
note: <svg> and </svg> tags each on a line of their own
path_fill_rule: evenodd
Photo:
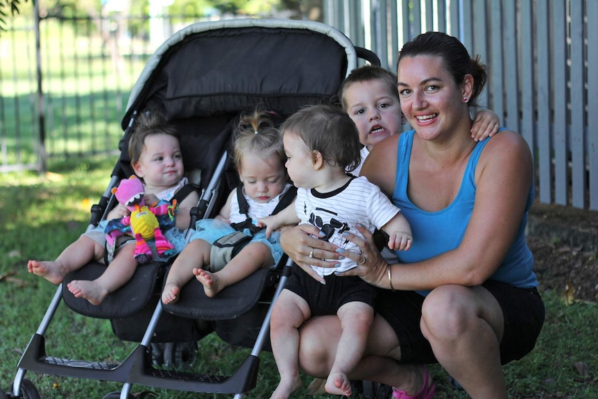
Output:
<svg viewBox="0 0 598 399">
<path fill-rule="evenodd" d="M 349 115 L 332 105 L 311 105 L 292 114 L 280 126 L 282 135 L 297 135 L 309 151 L 318 151 L 324 162 L 353 171 L 361 162 L 357 126 Z"/>
</svg>

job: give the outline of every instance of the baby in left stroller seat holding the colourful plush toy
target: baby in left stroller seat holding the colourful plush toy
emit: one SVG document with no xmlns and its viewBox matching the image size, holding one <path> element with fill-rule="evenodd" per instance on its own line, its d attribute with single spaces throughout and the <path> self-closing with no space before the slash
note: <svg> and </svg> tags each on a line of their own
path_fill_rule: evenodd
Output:
<svg viewBox="0 0 598 399">
<path fill-rule="evenodd" d="M 137 119 L 133 134 L 129 140 L 129 156 L 131 167 L 138 178 L 144 182 L 146 203 L 159 200 L 172 201 L 177 192 L 187 185 L 187 178 L 183 177 L 184 168 L 180 144 L 176 130 L 166 124 L 159 112 L 146 112 Z M 180 198 L 177 207 L 175 227 L 164 232 L 164 237 L 174 245 L 173 254 L 176 255 L 185 244 L 182 229 L 189 224 L 189 210 L 195 206 L 199 197 L 191 191 L 185 198 Z M 123 236 L 119 239 L 114 257 L 106 257 L 105 227 L 108 221 L 129 216 L 130 211 L 122 204 L 112 209 L 106 220 L 98 226 L 88 230 L 65 248 L 55 261 L 29 260 L 27 269 L 45 278 L 53 284 L 60 284 L 65 275 L 82 268 L 92 261 L 108 265 L 102 275 L 96 280 L 73 280 L 68 289 L 77 298 L 85 298 L 93 305 L 99 305 L 111 292 L 119 289 L 130 280 L 137 268 L 135 260 L 135 239 Z M 167 260 L 157 257 L 158 260 Z"/>
</svg>

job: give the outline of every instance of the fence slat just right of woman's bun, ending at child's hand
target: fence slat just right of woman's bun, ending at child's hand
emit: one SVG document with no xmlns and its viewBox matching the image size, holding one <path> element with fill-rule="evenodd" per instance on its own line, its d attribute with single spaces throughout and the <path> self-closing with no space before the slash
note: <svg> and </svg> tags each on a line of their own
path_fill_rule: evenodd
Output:
<svg viewBox="0 0 598 399">
<path fill-rule="evenodd" d="M 504 75 L 502 70 L 502 6 L 500 0 L 490 1 L 490 83 L 492 84 L 492 102 L 490 108 L 498 114 L 499 119 L 504 118 Z M 488 99 L 490 100 L 490 99 Z M 490 104 L 490 102 L 488 101 Z"/>
</svg>

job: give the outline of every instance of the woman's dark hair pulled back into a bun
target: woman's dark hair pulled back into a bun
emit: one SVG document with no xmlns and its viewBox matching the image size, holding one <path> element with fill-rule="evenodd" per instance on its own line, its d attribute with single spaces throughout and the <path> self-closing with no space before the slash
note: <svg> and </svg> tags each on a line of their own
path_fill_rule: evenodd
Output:
<svg viewBox="0 0 598 399">
<path fill-rule="evenodd" d="M 453 77 L 454 82 L 461 86 L 465 75 L 473 77 L 473 92 L 468 102 L 470 106 L 477 106 L 477 97 L 486 85 L 486 66 L 479 61 L 479 56 L 471 58 L 463 43 L 456 37 L 442 32 L 426 32 L 404 44 L 399 52 L 397 71 L 401 60 L 406 57 L 437 56 L 442 58 L 445 68 Z"/>
</svg>

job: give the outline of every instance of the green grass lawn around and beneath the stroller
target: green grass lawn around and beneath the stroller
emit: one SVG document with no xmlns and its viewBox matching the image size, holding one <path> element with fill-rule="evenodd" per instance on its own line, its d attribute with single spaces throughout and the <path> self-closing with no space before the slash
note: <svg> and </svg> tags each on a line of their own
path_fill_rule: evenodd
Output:
<svg viewBox="0 0 598 399">
<path fill-rule="evenodd" d="M 85 230 L 89 206 L 108 184 L 114 160 L 51 164 L 52 173 L 31 172 L 0 176 L 0 390 L 12 390 L 17 363 L 55 293 L 55 286 L 29 275 L 26 261 L 53 259 Z M 7 277 L 8 276 L 8 277 Z M 523 359 L 504 366 L 511 398 L 598 398 L 598 306 L 574 303 L 566 306 L 552 291 L 543 292 L 547 319 L 536 348 Z M 199 341 L 193 371 L 232 373 L 248 355 L 211 334 Z M 46 333 L 48 354 L 72 359 L 121 362 L 135 343 L 123 342 L 112 333 L 109 321 L 92 319 L 60 305 Z M 268 398 L 277 384 L 271 353 L 260 355 L 257 387 L 247 398 Z M 209 371 L 207 371 L 209 370 Z M 454 389 L 438 365 L 430 367 L 436 382 L 436 398 L 468 398 Z M 119 391 L 120 384 L 55 375 L 27 373 L 43 398 L 102 398 Z M 295 398 L 307 396 L 304 389 Z M 185 393 L 134 386 L 153 391 L 156 398 L 223 398 L 223 395 Z M 328 396 L 313 396 L 314 399 Z"/>
</svg>

